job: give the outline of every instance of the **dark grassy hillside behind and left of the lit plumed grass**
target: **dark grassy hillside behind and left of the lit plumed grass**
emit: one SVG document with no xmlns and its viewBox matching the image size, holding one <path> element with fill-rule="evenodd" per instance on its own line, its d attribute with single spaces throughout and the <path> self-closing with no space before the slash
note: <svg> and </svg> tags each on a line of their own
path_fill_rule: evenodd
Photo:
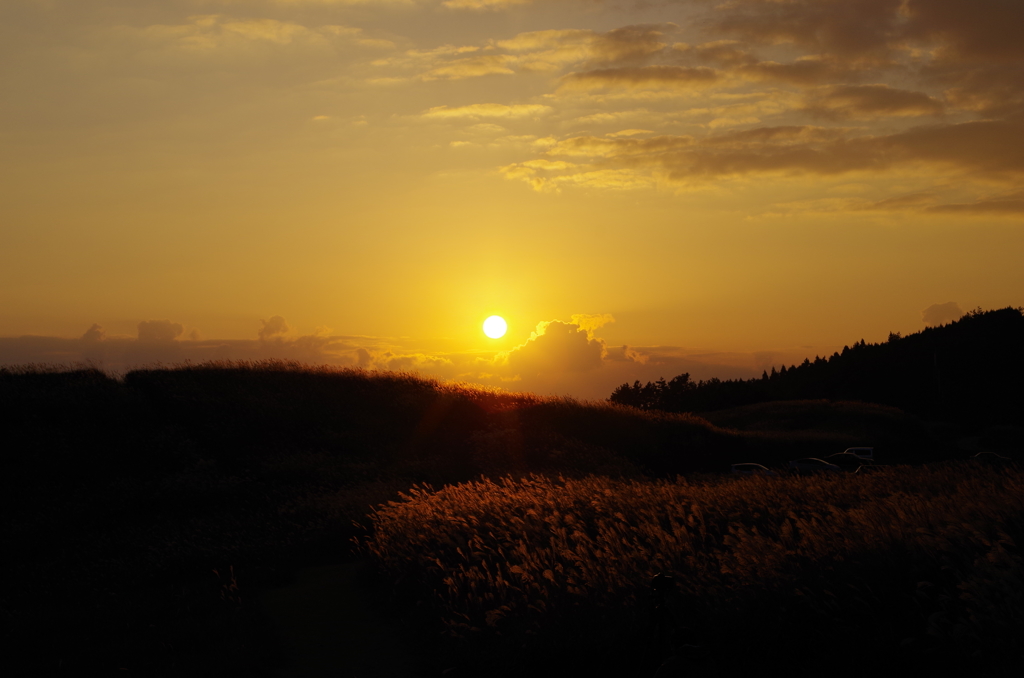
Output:
<svg viewBox="0 0 1024 678">
<path fill-rule="evenodd" d="M 915 430 L 872 406 L 759 407 L 709 421 L 279 362 L 120 380 L 0 369 L 8 666 L 275 675 L 278 645 L 246 601 L 350 557 L 372 507 L 414 483 L 685 473 L 713 486 L 731 479 L 701 473 L 733 461 Z"/>
</svg>

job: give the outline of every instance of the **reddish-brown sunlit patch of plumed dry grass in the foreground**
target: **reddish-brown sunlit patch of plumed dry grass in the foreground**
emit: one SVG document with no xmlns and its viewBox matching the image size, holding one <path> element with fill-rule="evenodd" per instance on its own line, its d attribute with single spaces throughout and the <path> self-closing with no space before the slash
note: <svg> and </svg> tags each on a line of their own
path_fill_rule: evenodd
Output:
<svg viewBox="0 0 1024 678">
<path fill-rule="evenodd" d="M 977 659 L 1024 625 L 1022 515 L 1024 474 L 966 463 L 713 483 L 535 476 L 414 488 L 372 516 L 361 548 L 493 658 L 636 640 L 666 573 L 680 625 L 759 630 L 766 649 L 782 629 L 853 631 Z"/>
</svg>

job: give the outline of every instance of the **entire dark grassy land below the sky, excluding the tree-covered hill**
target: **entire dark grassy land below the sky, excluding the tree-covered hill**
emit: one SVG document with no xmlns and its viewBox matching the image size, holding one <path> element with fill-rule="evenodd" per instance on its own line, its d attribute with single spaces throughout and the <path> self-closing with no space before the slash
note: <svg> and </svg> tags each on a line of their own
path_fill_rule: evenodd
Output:
<svg viewBox="0 0 1024 678">
<path fill-rule="evenodd" d="M 8 674 L 1024 662 L 1024 473 L 968 460 L 950 442 L 979 432 L 955 422 L 823 400 L 705 419 L 281 363 L 0 370 L 0 408 Z M 722 473 L 855 444 L 887 467 Z"/>
</svg>

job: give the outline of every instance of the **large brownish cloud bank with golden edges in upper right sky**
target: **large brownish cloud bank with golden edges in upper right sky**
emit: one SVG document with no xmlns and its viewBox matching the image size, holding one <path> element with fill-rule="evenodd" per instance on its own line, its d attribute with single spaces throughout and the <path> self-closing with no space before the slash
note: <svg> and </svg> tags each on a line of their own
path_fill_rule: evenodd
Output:
<svg viewBox="0 0 1024 678">
<path fill-rule="evenodd" d="M 601 177 L 612 173 L 620 178 L 613 182 L 618 186 L 648 186 L 724 176 L 830 176 L 911 167 L 923 175 L 953 172 L 969 182 L 995 179 L 1014 186 L 1019 184 L 1024 169 L 1021 146 L 1014 141 L 1024 131 L 1019 115 L 1024 112 L 1024 69 L 1020 58 L 1024 49 L 1006 27 L 1024 20 L 1024 5 L 999 0 L 983 5 L 987 11 L 972 8 L 965 12 L 963 3 L 951 0 L 737 0 L 709 10 L 705 31 L 717 34 L 718 40 L 696 46 L 675 43 L 664 48 L 662 38 L 670 33 L 664 26 L 671 26 L 664 25 L 645 38 L 649 49 L 636 52 L 643 59 L 663 62 L 627 65 L 611 59 L 601 68 L 577 69 L 557 81 L 557 91 L 562 93 L 660 89 L 693 94 L 701 89 L 728 90 L 742 81 L 774 82 L 804 90 L 796 98 L 773 93 L 774 102 L 781 104 L 774 111 L 719 113 L 705 123 L 709 130 L 758 125 L 766 114 L 775 118 L 787 115 L 791 119 L 802 114 L 834 121 L 941 120 L 958 115 L 958 120 L 884 133 L 818 129 L 806 124 L 764 125 L 733 136 L 663 134 L 647 146 L 613 137 L 577 136 L 558 139 L 545 152 L 548 158 L 573 159 L 573 166 L 560 175 L 524 161 L 501 169 L 506 176 L 526 180 L 538 189 L 572 183 L 593 186 L 595 180 L 600 183 Z M 592 37 L 536 33 L 523 34 L 505 44 L 540 50 L 562 41 L 579 43 L 585 39 Z M 809 53 L 788 61 L 762 58 L 755 53 L 758 48 L 781 44 Z M 588 65 L 584 60 L 577 63 Z M 887 72 L 914 74 L 920 88 L 886 83 Z M 865 78 L 874 82 L 865 83 Z M 593 100 L 607 103 L 611 99 Z M 701 115 L 699 111 L 684 110 L 678 115 L 696 118 Z M 711 113 L 710 108 L 702 111 Z M 967 112 L 996 117 L 964 120 Z M 612 112 L 599 112 L 581 119 L 613 117 Z M 787 130 L 799 132 L 785 138 L 783 132 Z M 600 160 L 600 166 L 581 167 L 579 159 L 587 157 L 595 163 Z M 622 180 L 627 176 L 635 181 Z M 1013 214 L 1019 211 L 1018 195 L 1011 192 L 999 198 L 979 197 L 949 205 L 916 201 L 915 207 L 933 214 Z M 895 208 L 898 202 L 886 208 Z M 900 205 L 908 206 L 906 202 Z"/>
</svg>

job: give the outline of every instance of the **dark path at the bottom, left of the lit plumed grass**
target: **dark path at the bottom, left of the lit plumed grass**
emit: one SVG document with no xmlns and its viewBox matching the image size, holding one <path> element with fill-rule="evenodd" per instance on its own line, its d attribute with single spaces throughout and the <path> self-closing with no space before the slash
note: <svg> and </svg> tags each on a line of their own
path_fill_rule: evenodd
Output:
<svg viewBox="0 0 1024 678">
<path fill-rule="evenodd" d="M 411 678 L 410 644 L 368 586 L 358 561 L 305 567 L 263 591 L 260 605 L 288 651 L 283 678 Z"/>
</svg>

